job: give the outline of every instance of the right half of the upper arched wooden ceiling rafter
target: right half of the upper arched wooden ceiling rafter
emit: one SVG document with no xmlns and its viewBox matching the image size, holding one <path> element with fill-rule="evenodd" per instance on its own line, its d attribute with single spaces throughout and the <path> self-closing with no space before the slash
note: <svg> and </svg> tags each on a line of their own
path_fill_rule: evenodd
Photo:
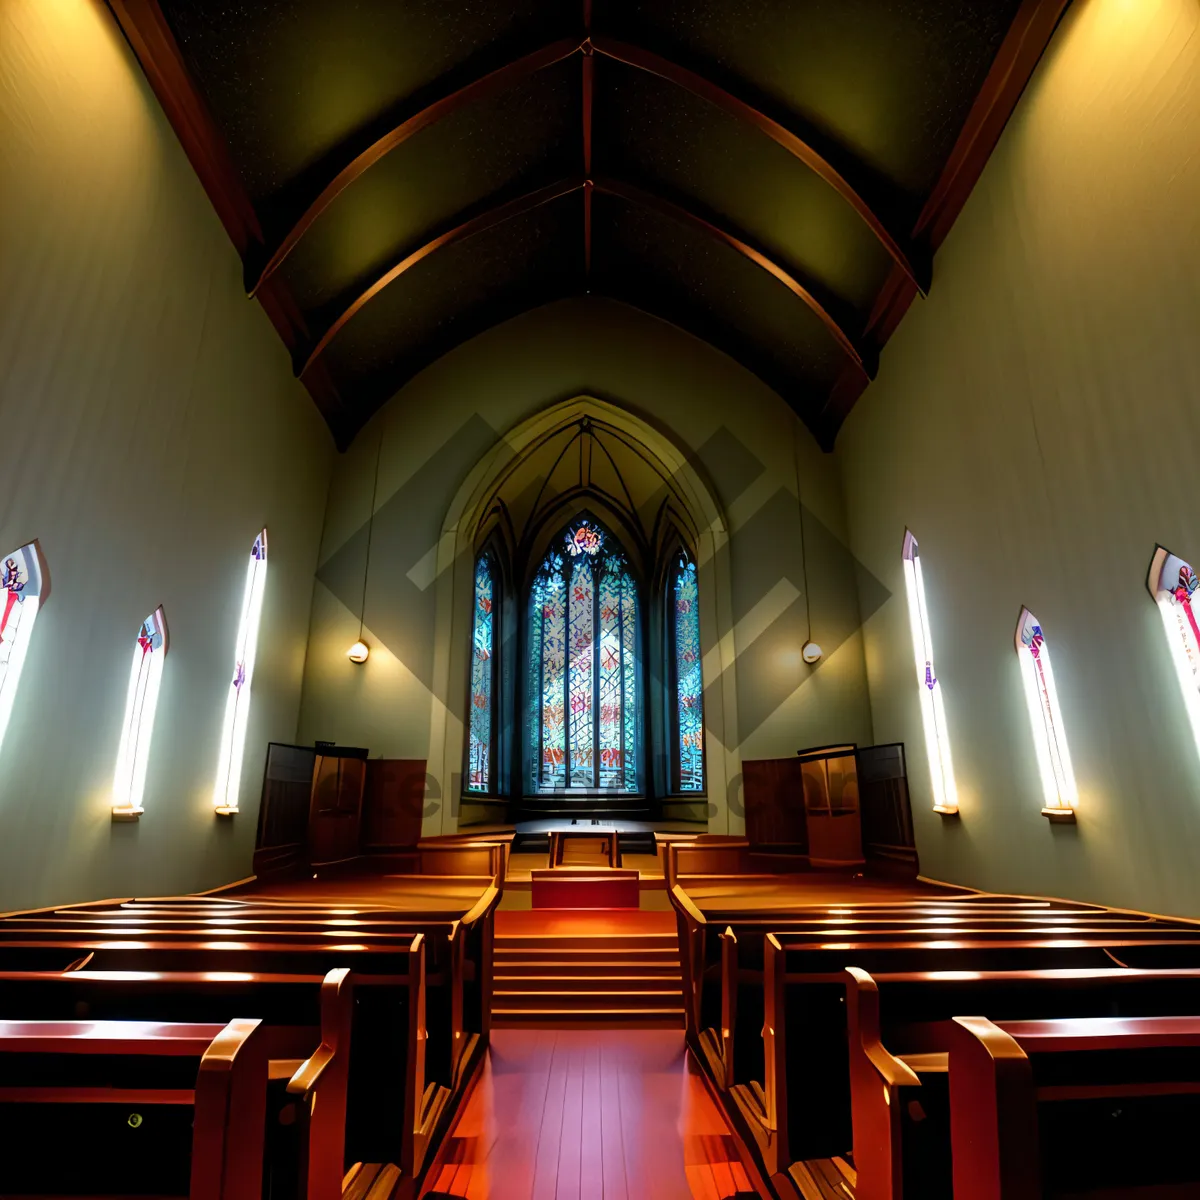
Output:
<svg viewBox="0 0 1200 1200">
<path fill-rule="evenodd" d="M 637 46 L 618 42 L 611 37 L 592 37 L 589 42 L 598 54 L 604 54 L 606 58 L 613 59 L 617 62 L 624 62 L 626 66 L 636 67 L 640 71 L 656 74 L 659 78 L 684 88 L 686 91 L 692 92 L 692 95 L 700 96 L 710 104 L 715 104 L 724 112 L 739 118 L 761 133 L 766 133 L 773 142 L 820 175 L 821 179 L 850 204 L 871 233 L 875 234 L 880 245 L 888 252 L 896 266 L 912 280 L 919 290 L 926 292 L 929 289 L 931 274 L 929 256 L 908 238 L 905 238 L 898 230 L 889 229 L 887 222 L 864 199 L 862 190 L 847 180 L 841 172 L 804 140 L 804 138 L 799 137 L 799 134 L 780 125 L 779 121 L 752 104 L 727 92 L 712 80 L 659 54 L 644 50 Z"/>
</svg>

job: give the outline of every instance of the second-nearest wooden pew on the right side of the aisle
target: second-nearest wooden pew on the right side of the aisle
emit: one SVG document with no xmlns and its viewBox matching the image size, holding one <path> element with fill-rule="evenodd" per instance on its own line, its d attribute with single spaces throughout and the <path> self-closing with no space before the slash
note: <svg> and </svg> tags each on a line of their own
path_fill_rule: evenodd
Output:
<svg viewBox="0 0 1200 1200">
<path fill-rule="evenodd" d="M 949 1195 L 946 1088 L 952 1018 L 1147 1016 L 1200 1012 L 1200 970 L 846 972 L 858 1195 Z M 914 1108 L 917 1105 L 917 1108 Z M 913 1114 L 918 1120 L 913 1120 Z"/>
</svg>

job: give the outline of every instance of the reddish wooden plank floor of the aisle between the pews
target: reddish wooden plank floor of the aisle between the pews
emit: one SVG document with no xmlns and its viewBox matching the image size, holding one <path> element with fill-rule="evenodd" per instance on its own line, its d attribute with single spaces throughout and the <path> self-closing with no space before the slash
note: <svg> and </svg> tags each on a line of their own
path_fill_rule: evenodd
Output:
<svg viewBox="0 0 1200 1200">
<path fill-rule="evenodd" d="M 754 1196 L 683 1033 L 496 1030 L 422 1196 Z"/>
</svg>

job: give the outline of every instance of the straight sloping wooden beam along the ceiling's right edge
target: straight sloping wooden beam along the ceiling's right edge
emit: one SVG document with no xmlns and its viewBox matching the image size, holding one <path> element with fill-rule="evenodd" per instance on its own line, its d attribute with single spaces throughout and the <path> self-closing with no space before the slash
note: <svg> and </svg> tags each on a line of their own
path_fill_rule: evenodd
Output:
<svg viewBox="0 0 1200 1200">
<path fill-rule="evenodd" d="M 1024 0 L 1013 18 L 942 174 L 917 217 L 914 236 L 931 252 L 946 240 L 966 205 L 1069 5 L 1070 0 Z M 866 338 L 882 349 L 916 295 L 912 281 L 893 268 L 868 319 Z M 838 378 L 817 421 L 817 438 L 824 449 L 833 449 L 842 421 L 865 386 L 857 372 L 844 370 Z"/>
</svg>

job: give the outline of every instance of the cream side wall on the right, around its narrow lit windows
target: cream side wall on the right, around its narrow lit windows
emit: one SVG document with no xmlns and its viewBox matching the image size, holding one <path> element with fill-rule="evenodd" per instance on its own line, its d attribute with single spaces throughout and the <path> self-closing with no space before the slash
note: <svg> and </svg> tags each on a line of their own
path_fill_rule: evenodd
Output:
<svg viewBox="0 0 1200 1200">
<path fill-rule="evenodd" d="M 1145 578 L 1200 559 L 1200 4 L 1078 0 L 838 443 L 876 737 L 923 870 L 1200 912 L 1200 760 Z M 920 541 L 961 818 L 930 811 L 900 547 Z M 1040 816 L 1013 632 L 1052 649 L 1076 828 Z"/>
</svg>

